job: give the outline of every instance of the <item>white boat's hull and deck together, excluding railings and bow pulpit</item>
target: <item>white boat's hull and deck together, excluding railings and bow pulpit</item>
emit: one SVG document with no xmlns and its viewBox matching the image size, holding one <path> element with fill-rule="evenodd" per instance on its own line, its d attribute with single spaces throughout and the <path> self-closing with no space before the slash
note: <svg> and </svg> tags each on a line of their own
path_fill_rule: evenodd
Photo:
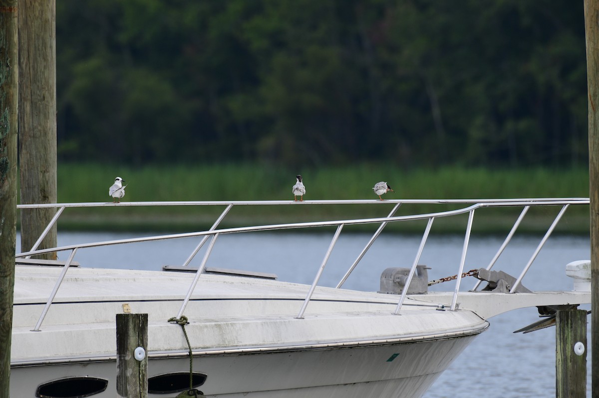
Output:
<svg viewBox="0 0 599 398">
<path fill-rule="evenodd" d="M 123 304 L 149 314 L 149 377 L 189 371 L 181 327 L 167 320 L 192 274 L 70 270 L 41 331 L 32 332 L 59 271 L 17 267 L 12 398 L 74 376 L 106 379 L 107 389 L 94 396 L 117 396 L 114 317 Z M 225 293 L 231 284 L 236 291 Z M 411 302 L 393 315 L 397 295 L 331 288 L 316 289 L 304 319 L 296 319 L 307 288 L 201 278 L 186 310 L 193 371 L 207 375 L 198 389 L 213 397 L 419 397 L 488 327 L 471 311 Z"/>
</svg>

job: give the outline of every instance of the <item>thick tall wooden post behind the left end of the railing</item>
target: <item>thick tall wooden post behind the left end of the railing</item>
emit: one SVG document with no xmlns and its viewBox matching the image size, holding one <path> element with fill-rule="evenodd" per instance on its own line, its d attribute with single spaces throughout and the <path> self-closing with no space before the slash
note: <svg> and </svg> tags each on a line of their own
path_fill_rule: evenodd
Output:
<svg viewBox="0 0 599 398">
<path fill-rule="evenodd" d="M 56 0 L 19 0 L 19 163 L 23 204 L 56 203 Z M 27 252 L 56 209 L 21 212 Z M 56 247 L 56 226 L 39 249 Z M 56 252 L 37 256 L 56 259 Z"/>
</svg>

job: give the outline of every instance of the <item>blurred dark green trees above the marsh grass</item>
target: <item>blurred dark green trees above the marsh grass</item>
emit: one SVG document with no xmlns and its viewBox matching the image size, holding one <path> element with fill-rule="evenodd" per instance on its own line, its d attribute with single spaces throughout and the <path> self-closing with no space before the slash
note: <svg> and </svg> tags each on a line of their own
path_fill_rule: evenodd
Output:
<svg viewBox="0 0 599 398">
<path fill-rule="evenodd" d="M 59 157 L 586 161 L 582 4 L 60 0 Z"/>
</svg>

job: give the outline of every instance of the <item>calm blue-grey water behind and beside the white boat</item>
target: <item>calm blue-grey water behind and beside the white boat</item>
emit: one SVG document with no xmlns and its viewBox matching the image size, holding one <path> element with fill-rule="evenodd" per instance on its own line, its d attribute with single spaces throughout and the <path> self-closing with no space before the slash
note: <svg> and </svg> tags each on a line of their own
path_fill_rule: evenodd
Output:
<svg viewBox="0 0 599 398">
<path fill-rule="evenodd" d="M 59 237 L 59 246 L 127 237 L 131 235 L 63 233 Z M 207 266 L 275 273 L 280 280 L 311 283 L 331 238 L 332 234 L 297 234 L 292 231 L 224 235 L 218 238 Z M 369 238 L 370 235 L 365 234 L 341 234 L 319 284 L 336 286 Z M 518 277 L 540 238 L 514 238 L 494 270 Z M 429 279 L 457 273 L 463 240 L 463 237 L 458 236 L 429 237 L 420 259 L 420 264 L 432 268 L 429 270 Z M 471 237 L 464 270 L 486 267 L 502 241 L 503 237 Z M 197 242 L 195 238 L 187 238 L 140 243 L 132 248 L 117 245 L 104 249 L 81 249 L 77 252 L 75 261 L 80 262 L 83 267 L 101 267 L 105 266 L 108 259 L 110 266 L 114 268 L 161 270 L 162 265 L 181 265 Z M 379 290 L 382 271 L 388 267 L 410 267 L 419 243 L 420 237 L 381 235 L 343 287 Z M 20 247 L 18 242 L 17 247 Z M 198 253 L 192 265 L 200 264 L 204 250 L 205 248 Z M 589 259 L 590 255 L 588 238 L 552 237 L 522 283 L 531 290 L 571 290 L 571 280 L 564 274 L 565 265 L 571 261 Z M 66 252 L 62 255 L 59 253 L 61 259 L 66 259 L 67 256 Z M 475 282 L 474 278 L 465 278 L 462 280 L 461 290 L 471 289 Z M 431 289 L 453 290 L 454 287 L 455 281 L 450 281 Z M 588 309 L 589 306 L 584 308 Z M 453 362 L 425 397 L 555 396 L 555 328 L 525 335 L 512 333 L 537 320 L 539 317 L 536 308 L 516 310 L 492 318 L 491 327 Z M 590 342 L 590 333 L 588 341 Z M 590 358 L 587 351 L 588 396 L 591 391 Z"/>
</svg>

